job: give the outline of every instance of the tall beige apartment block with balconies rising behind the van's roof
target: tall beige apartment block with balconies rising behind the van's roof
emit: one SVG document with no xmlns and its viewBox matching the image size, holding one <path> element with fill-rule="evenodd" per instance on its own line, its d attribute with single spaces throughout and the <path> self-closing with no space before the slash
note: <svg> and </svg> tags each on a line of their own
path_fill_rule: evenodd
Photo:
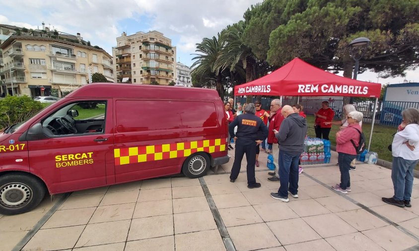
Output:
<svg viewBox="0 0 419 251">
<path fill-rule="evenodd" d="M 114 77 L 118 82 L 168 85 L 175 82 L 176 47 L 158 31 L 125 32 L 113 47 Z"/>
</svg>

